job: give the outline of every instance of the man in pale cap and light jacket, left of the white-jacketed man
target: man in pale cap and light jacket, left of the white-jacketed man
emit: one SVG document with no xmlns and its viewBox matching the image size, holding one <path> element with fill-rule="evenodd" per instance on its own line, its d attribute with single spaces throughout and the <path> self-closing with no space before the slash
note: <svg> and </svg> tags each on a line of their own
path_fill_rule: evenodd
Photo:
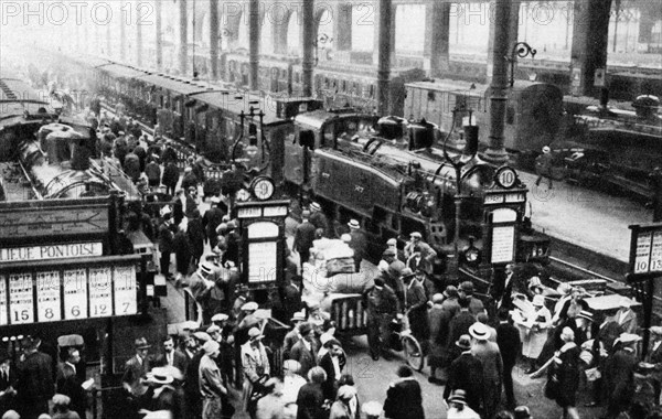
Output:
<svg viewBox="0 0 662 419">
<path fill-rule="evenodd" d="M 204 355 L 200 359 L 199 383 L 200 394 L 202 396 L 202 419 L 223 418 L 223 399 L 227 395 L 227 389 L 223 385 L 221 369 L 216 365 L 216 358 L 221 353 L 218 342 L 210 340 L 202 346 Z"/>
</svg>

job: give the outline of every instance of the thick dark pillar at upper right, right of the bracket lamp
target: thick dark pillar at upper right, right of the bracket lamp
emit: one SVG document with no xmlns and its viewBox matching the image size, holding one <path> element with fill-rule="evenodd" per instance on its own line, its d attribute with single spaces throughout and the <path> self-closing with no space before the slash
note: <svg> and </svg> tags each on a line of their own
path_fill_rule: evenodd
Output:
<svg viewBox="0 0 662 419">
<path fill-rule="evenodd" d="M 607 67 L 611 0 L 575 1 L 570 83 L 575 95 L 592 96 L 595 73 Z"/>
</svg>

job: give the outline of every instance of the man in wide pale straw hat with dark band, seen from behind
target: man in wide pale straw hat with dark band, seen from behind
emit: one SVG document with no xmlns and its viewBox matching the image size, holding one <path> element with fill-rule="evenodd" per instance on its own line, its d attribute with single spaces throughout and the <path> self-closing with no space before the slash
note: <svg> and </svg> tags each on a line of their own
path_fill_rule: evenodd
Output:
<svg viewBox="0 0 662 419">
<path fill-rule="evenodd" d="M 483 413 L 491 418 L 496 413 L 501 401 L 501 385 L 503 384 L 503 362 L 501 352 L 494 342 L 490 342 L 491 331 L 487 324 L 476 322 L 469 327 L 473 337 L 471 353 L 483 366 Z"/>
</svg>

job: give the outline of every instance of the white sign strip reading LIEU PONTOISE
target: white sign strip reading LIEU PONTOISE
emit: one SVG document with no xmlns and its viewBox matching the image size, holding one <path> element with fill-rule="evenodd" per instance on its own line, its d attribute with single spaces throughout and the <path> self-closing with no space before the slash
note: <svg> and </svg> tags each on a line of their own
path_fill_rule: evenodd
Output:
<svg viewBox="0 0 662 419">
<path fill-rule="evenodd" d="M 0 249 L 0 262 L 102 256 L 102 243 L 66 243 Z"/>
</svg>

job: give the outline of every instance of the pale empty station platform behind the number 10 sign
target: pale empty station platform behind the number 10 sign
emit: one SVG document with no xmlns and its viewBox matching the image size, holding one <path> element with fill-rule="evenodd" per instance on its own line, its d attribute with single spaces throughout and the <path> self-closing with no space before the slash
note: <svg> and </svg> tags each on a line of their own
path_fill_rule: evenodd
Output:
<svg viewBox="0 0 662 419">
<path fill-rule="evenodd" d="M 549 189 L 546 179 L 536 186 L 537 175 L 525 172 L 520 178 L 530 190 L 536 230 L 621 262 L 630 258 L 628 226 L 653 219 L 652 210 L 627 197 L 558 181 Z"/>
</svg>

